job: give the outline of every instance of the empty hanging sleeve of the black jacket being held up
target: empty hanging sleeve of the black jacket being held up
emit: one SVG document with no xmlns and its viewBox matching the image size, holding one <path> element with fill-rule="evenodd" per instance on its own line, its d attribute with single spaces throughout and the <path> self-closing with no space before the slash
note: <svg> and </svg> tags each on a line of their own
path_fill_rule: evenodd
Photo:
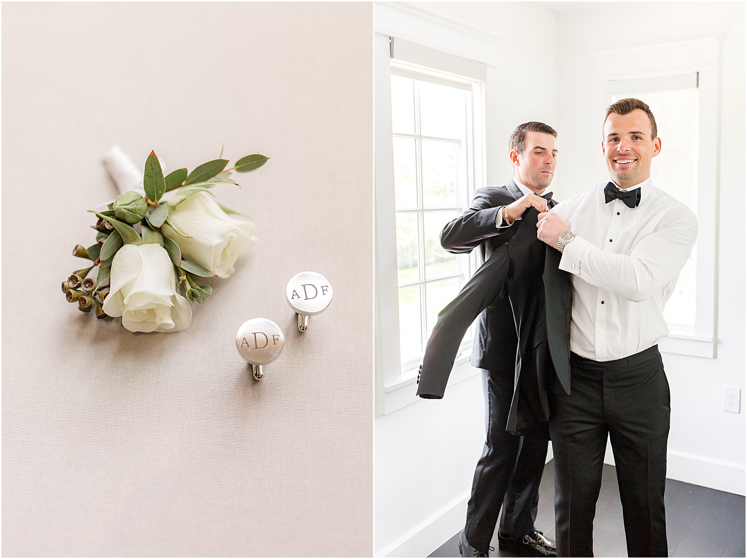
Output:
<svg viewBox="0 0 747 559">
<path fill-rule="evenodd" d="M 418 374 L 418 396 L 444 397 L 459 344 L 474 319 L 501 293 L 509 269 L 508 246 L 495 250 L 459 294 L 438 313 Z"/>
</svg>

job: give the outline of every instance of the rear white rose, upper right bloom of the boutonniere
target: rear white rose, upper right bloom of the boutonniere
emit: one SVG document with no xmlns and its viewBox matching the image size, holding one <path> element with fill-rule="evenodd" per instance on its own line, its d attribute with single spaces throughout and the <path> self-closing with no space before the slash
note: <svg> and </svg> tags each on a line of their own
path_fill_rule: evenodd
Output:
<svg viewBox="0 0 747 559">
<path fill-rule="evenodd" d="M 252 237 L 252 222 L 229 216 L 206 192 L 179 204 L 170 217 L 174 226 L 191 238 L 176 234 L 166 224 L 161 227 L 161 233 L 179 245 L 187 260 L 211 270 L 219 278 L 228 278 L 234 272 L 239 254 L 247 252 L 257 242 L 256 237 Z"/>
</svg>

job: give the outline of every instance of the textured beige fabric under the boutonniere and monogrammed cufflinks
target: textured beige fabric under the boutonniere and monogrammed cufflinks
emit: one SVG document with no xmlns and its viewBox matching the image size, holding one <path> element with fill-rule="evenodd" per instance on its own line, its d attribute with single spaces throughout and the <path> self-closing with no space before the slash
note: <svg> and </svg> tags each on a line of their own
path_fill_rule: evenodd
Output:
<svg viewBox="0 0 747 559">
<path fill-rule="evenodd" d="M 3 555 L 371 555 L 371 4 L 4 4 L 2 86 Z M 67 304 L 102 154 L 222 143 L 272 157 L 218 192 L 259 243 L 191 327 Z M 306 269 L 335 300 L 300 334 Z M 255 316 L 286 336 L 259 383 Z"/>
</svg>

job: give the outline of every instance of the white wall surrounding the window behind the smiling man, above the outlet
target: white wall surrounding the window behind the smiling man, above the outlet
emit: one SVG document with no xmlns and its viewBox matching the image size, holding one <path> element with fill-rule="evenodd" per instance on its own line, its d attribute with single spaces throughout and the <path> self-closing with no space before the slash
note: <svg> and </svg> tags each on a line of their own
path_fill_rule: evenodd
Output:
<svg viewBox="0 0 747 559">
<path fill-rule="evenodd" d="M 614 21 L 614 28 L 609 22 Z M 745 390 L 745 234 L 731 219 L 743 207 L 745 122 L 745 7 L 741 2 L 595 2 L 557 16 L 558 138 L 555 190 L 562 198 L 588 190 L 607 170 L 601 156 L 602 116 L 589 110 L 590 59 L 598 51 L 716 37 L 719 40 L 718 306 L 716 359 L 663 354 L 672 391 L 667 475 L 707 487 L 745 493 L 743 413 L 723 410 L 724 387 Z M 632 33 L 624 30 L 634 30 Z M 666 149 L 666 130 L 659 131 Z M 656 165 L 656 160 L 654 160 Z M 740 210 L 741 214 L 741 210 Z M 702 225 L 701 225 L 702 228 Z M 743 397 L 744 402 L 744 397 Z M 609 453 L 608 453 L 609 454 Z M 611 461 L 611 460 L 610 460 Z"/>
</svg>

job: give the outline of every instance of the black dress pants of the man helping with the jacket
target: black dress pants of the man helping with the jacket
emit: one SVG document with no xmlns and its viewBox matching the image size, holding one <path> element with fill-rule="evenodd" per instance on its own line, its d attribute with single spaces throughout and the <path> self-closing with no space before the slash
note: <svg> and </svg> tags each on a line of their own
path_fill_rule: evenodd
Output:
<svg viewBox="0 0 747 559">
<path fill-rule="evenodd" d="M 514 372 L 481 370 L 486 396 L 486 442 L 474 471 L 465 534 L 471 546 L 486 550 L 495 532 L 500 505 L 503 534 L 521 537 L 533 533 L 548 441 L 506 433 Z"/>
</svg>

